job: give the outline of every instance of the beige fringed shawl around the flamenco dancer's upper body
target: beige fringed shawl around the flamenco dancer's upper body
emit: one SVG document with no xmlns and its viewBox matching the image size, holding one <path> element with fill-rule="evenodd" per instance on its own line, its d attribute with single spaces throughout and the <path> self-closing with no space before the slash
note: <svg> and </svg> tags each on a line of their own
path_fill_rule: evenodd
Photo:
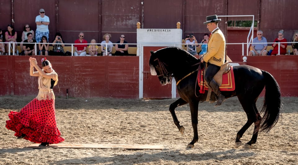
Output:
<svg viewBox="0 0 298 165">
<path fill-rule="evenodd" d="M 56 80 L 54 86 L 58 82 L 58 74 L 53 70 L 52 73 L 52 79 Z M 36 96 L 37 100 L 55 100 L 55 95 L 51 87 L 51 78 L 45 78 L 41 74 L 39 74 L 38 77 L 38 95 Z"/>
</svg>

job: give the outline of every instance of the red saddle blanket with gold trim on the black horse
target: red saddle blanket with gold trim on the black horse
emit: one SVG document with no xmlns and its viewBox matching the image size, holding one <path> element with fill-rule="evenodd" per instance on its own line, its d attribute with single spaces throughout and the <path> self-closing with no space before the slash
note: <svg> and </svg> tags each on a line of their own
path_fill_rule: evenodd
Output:
<svg viewBox="0 0 298 165">
<path fill-rule="evenodd" d="M 204 82 L 204 69 L 199 70 L 201 75 L 198 76 L 198 82 L 200 85 L 200 93 L 205 93 L 205 90 L 209 90 L 209 87 L 206 86 Z M 198 74 L 199 74 L 198 73 Z M 235 78 L 234 78 L 234 71 L 233 66 L 230 67 L 230 71 L 228 73 L 223 74 L 223 82 L 219 87 L 220 91 L 234 91 L 235 90 Z"/>
</svg>

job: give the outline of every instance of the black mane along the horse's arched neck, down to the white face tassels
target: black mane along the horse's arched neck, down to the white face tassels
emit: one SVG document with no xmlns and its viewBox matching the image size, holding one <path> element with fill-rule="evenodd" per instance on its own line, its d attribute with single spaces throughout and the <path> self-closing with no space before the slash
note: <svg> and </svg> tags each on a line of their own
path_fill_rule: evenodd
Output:
<svg viewBox="0 0 298 165">
<path fill-rule="evenodd" d="M 150 70 L 151 75 L 156 75 L 156 71 L 153 67 L 153 61 L 155 58 L 158 58 L 162 62 L 167 62 L 176 66 L 180 66 L 182 68 L 189 68 L 192 65 L 200 62 L 199 59 L 197 59 L 192 54 L 188 53 L 182 48 L 179 47 L 165 47 L 158 51 L 154 52 L 154 57 L 150 57 Z"/>
</svg>

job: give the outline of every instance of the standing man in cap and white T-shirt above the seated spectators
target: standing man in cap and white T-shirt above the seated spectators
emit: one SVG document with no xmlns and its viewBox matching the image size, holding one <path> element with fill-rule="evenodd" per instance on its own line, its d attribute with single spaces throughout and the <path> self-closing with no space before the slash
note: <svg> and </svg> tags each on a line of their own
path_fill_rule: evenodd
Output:
<svg viewBox="0 0 298 165">
<path fill-rule="evenodd" d="M 36 42 L 41 42 L 43 36 L 47 36 L 49 38 L 49 24 L 50 18 L 44 14 L 44 9 L 39 9 L 39 16 L 36 16 Z"/>
</svg>

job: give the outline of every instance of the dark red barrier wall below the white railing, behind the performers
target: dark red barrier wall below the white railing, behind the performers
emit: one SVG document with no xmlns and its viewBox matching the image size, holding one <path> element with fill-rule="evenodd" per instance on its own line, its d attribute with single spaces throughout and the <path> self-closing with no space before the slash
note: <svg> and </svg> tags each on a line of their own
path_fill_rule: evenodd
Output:
<svg viewBox="0 0 298 165">
<path fill-rule="evenodd" d="M 44 56 L 34 57 L 41 66 Z M 61 92 L 56 86 L 56 96 L 66 97 L 68 89 L 70 97 L 139 98 L 138 56 L 47 58 L 59 75 Z M 282 96 L 298 96 L 298 56 L 248 56 L 246 64 L 271 73 Z M 29 56 L 0 56 L 0 96 L 37 95 L 37 77 L 29 75 L 29 66 Z M 150 84 L 144 88 L 155 89 Z"/>
</svg>

